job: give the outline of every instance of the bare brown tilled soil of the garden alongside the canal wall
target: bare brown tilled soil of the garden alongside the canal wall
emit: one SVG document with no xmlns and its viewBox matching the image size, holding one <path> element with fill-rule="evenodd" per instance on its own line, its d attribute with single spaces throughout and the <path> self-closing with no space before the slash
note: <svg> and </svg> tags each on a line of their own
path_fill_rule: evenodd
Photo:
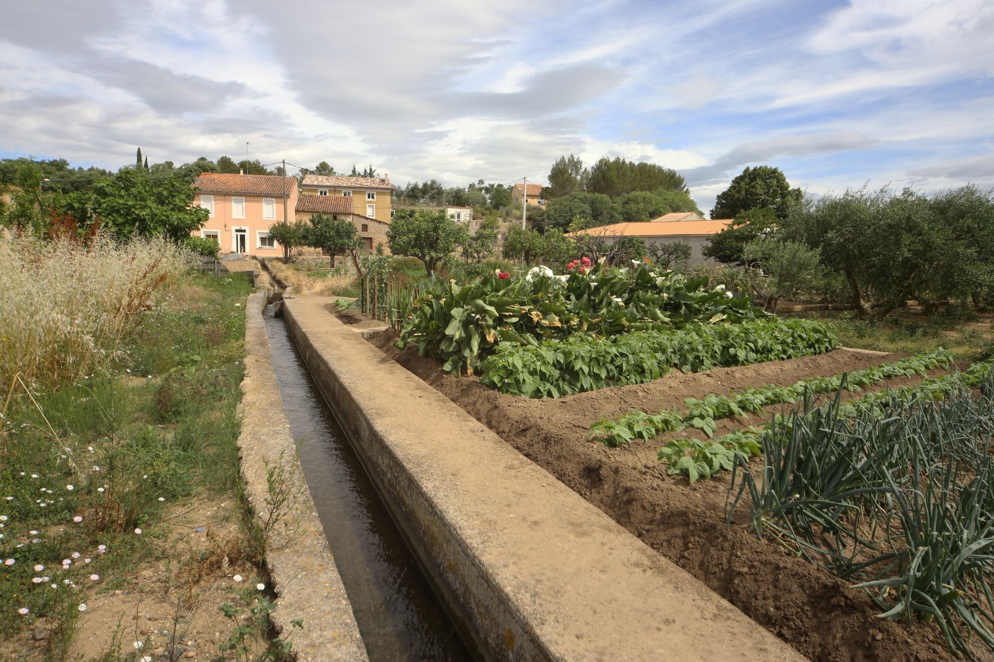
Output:
<svg viewBox="0 0 994 662">
<path fill-rule="evenodd" d="M 675 373 L 650 384 L 615 387 L 558 400 L 507 396 L 474 378 L 456 378 L 412 348 L 396 347 L 392 331 L 372 342 L 388 356 L 491 428 L 522 454 L 659 554 L 700 579 L 746 615 L 813 660 L 948 660 L 937 628 L 877 618 L 880 609 L 863 591 L 797 557 L 773 541 L 760 541 L 745 525 L 725 525 L 729 476 L 698 481 L 666 473 L 652 443 L 608 448 L 586 440 L 591 422 L 637 408 L 646 412 L 683 406 L 683 399 L 749 386 L 786 386 L 807 377 L 830 377 L 901 354 L 835 350 L 825 355 L 703 373 Z M 942 371 L 933 371 L 930 376 Z M 916 378 L 896 378 L 900 387 Z M 718 434 L 768 420 L 762 416 L 719 421 Z M 696 430 L 679 433 L 693 435 Z M 703 438 L 703 437 L 702 437 Z M 647 618 L 664 614 L 646 614 Z"/>
</svg>

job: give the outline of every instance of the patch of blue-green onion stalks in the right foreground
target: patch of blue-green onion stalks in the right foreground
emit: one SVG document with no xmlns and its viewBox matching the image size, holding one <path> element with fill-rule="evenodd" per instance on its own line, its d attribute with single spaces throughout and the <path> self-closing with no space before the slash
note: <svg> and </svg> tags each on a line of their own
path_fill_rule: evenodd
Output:
<svg viewBox="0 0 994 662">
<path fill-rule="evenodd" d="M 882 616 L 934 620 L 970 658 L 972 636 L 994 650 L 992 368 L 875 394 L 872 408 L 843 405 L 840 388 L 774 418 L 761 474 L 737 458 L 728 521 L 745 497 L 758 537 L 858 582 Z"/>
</svg>

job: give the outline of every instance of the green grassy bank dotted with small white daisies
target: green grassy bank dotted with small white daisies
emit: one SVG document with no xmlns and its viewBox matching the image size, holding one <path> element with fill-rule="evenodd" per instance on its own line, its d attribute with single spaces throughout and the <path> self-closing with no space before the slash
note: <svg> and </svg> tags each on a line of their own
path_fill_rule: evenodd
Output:
<svg viewBox="0 0 994 662">
<path fill-rule="evenodd" d="M 8 651 L 74 652 L 94 600 L 168 554 L 170 513 L 193 497 L 234 501 L 249 291 L 241 274 L 175 275 L 109 363 L 30 392 L 16 378 L 3 385 L 0 640 Z M 226 566 L 252 556 L 237 547 Z M 170 560 L 177 574 L 203 561 Z"/>
</svg>

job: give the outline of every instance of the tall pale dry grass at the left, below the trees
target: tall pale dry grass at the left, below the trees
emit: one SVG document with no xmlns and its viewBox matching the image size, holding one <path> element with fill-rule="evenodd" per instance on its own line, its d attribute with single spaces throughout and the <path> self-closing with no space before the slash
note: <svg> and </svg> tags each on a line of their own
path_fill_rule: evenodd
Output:
<svg viewBox="0 0 994 662">
<path fill-rule="evenodd" d="M 0 232 L 0 384 L 73 382 L 119 355 L 189 255 L 161 240 L 39 242 Z"/>
</svg>

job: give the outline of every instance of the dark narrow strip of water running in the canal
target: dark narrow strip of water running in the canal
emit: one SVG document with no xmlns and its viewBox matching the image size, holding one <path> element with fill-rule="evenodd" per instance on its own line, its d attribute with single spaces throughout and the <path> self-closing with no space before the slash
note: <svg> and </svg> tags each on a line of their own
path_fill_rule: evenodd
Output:
<svg viewBox="0 0 994 662">
<path fill-rule="evenodd" d="M 271 306 L 265 326 L 304 476 L 370 659 L 472 660 Z"/>
</svg>

